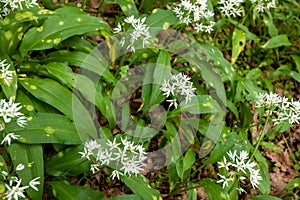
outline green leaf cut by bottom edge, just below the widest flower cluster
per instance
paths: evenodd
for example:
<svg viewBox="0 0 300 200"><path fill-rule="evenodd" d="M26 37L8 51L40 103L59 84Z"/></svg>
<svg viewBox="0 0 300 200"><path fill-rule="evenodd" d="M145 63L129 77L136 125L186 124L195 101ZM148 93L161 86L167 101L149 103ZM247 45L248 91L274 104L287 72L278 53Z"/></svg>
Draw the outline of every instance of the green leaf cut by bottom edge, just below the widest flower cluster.
<svg viewBox="0 0 300 200"><path fill-rule="evenodd" d="M158 190L153 189L147 180L142 175L137 176L122 176L121 180L129 187L134 194L137 194L145 200L162 200Z"/></svg>

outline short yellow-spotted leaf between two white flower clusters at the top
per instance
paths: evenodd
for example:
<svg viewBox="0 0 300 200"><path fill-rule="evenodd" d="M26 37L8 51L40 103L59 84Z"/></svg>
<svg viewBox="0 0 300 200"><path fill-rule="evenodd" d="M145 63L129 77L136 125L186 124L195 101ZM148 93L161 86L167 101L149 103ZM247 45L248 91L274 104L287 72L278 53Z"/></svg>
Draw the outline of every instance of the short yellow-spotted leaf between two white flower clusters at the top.
<svg viewBox="0 0 300 200"><path fill-rule="evenodd" d="M167 29L178 22L178 18L171 10L154 9L152 13L146 20L146 24L150 27Z"/></svg>

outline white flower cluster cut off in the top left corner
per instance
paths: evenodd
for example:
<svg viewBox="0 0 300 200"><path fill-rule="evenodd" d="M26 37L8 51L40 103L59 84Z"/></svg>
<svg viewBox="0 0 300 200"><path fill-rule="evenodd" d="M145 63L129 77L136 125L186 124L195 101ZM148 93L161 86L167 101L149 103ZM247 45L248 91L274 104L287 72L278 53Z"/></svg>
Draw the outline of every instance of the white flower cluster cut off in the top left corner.
<svg viewBox="0 0 300 200"><path fill-rule="evenodd" d="M15 10L23 10L25 8L32 8L38 6L37 0L0 0L3 3L0 9L0 18L14 12Z"/></svg>

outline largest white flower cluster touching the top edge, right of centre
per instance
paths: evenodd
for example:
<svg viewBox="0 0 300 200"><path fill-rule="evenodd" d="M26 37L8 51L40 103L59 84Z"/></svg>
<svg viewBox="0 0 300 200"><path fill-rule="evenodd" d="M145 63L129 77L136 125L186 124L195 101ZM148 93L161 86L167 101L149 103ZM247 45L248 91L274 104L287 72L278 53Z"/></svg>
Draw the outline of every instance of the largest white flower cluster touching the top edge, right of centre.
<svg viewBox="0 0 300 200"><path fill-rule="evenodd" d="M208 9L207 0L197 0L192 3L190 0L183 0L178 4L173 12L181 23L190 25L195 23L197 32L211 33L215 22L211 20L214 13Z"/></svg>

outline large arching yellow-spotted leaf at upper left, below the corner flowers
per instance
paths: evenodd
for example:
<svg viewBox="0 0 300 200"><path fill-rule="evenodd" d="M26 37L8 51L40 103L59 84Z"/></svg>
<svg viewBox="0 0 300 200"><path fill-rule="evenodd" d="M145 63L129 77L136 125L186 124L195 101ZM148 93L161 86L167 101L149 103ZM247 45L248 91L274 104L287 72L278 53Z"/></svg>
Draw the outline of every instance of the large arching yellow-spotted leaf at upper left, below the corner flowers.
<svg viewBox="0 0 300 200"><path fill-rule="evenodd" d="M85 33L101 31L109 35L110 27L100 18L83 14L66 14L49 17L42 26L30 29L20 46L22 56L30 50L49 49L61 41Z"/></svg>

